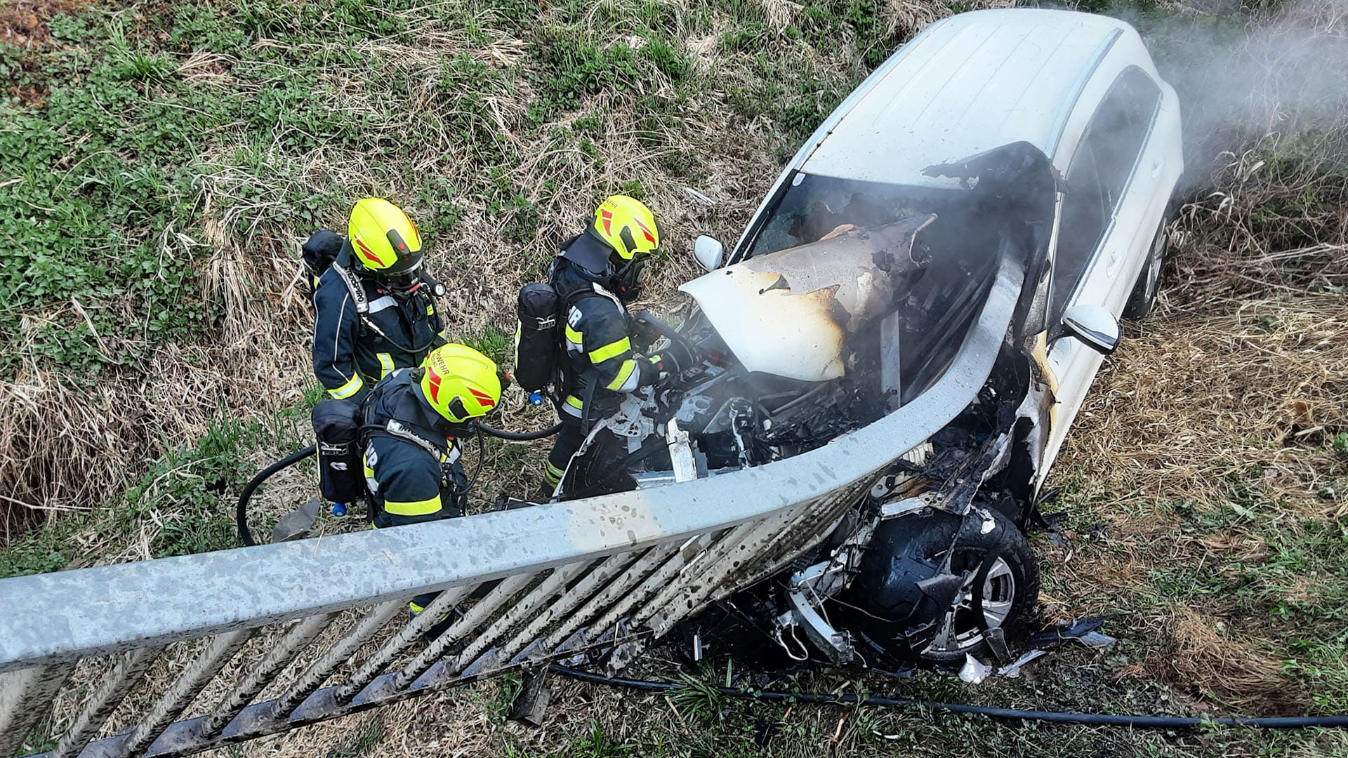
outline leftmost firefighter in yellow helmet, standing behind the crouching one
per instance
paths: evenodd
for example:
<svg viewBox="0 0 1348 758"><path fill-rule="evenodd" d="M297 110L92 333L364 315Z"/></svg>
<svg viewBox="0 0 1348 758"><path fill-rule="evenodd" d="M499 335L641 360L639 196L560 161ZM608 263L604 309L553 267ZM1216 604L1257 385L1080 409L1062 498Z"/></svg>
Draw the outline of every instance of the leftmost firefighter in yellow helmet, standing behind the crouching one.
<svg viewBox="0 0 1348 758"><path fill-rule="evenodd" d="M421 231L392 202L367 197L348 235L305 243L314 276L314 375L337 399L361 402L395 368L419 366L445 344L437 312L443 286L425 267Z"/></svg>

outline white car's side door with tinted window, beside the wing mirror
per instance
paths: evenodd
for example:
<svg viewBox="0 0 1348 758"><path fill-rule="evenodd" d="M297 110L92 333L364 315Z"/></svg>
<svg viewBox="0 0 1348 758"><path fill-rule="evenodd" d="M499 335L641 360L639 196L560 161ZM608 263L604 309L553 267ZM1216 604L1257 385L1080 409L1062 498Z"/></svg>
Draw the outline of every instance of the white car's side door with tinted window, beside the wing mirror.
<svg viewBox="0 0 1348 758"><path fill-rule="evenodd" d="M1142 69L1128 67L1096 108L1066 171L1053 260L1049 324L1061 324L1073 305L1103 305L1117 317L1140 271L1158 218L1155 182L1139 166L1157 162L1161 146L1148 140L1161 88ZM1155 173L1150 173L1154 177ZM1163 208L1163 204L1161 205ZM1039 471L1057 457L1103 356L1078 340L1049 345L1055 382L1053 426Z"/></svg>

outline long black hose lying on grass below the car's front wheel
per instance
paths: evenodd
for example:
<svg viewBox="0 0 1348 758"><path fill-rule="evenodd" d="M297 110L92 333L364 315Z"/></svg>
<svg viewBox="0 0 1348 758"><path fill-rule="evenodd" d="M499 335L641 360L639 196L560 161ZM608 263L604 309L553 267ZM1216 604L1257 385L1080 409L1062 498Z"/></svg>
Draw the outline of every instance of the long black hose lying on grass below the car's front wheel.
<svg viewBox="0 0 1348 758"><path fill-rule="evenodd" d="M561 664L553 664L550 670L562 676L589 681L640 689L646 692L669 692L682 689L685 685L663 681L646 681L638 678L605 677L590 672L582 672ZM717 687L717 692L727 697L748 697L768 701L789 703L825 703L834 705L878 705L884 708L931 708L933 711L950 711L954 713L975 713L992 719L1010 719L1022 722L1050 722L1057 724L1084 724L1100 727L1131 727L1131 728L1193 728L1205 724L1221 724L1228 727L1258 727L1266 730L1295 730L1309 727L1348 728L1348 716L1271 716L1271 718L1192 718L1192 716L1127 716L1113 713L1069 713L1062 711L1022 711L1019 708L995 708L992 705L968 705L964 703L937 703L934 700L915 700L911 697L857 697L856 695L822 695L817 692L745 692L731 687Z"/></svg>

